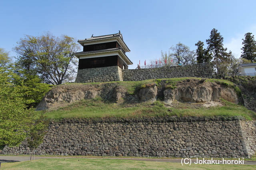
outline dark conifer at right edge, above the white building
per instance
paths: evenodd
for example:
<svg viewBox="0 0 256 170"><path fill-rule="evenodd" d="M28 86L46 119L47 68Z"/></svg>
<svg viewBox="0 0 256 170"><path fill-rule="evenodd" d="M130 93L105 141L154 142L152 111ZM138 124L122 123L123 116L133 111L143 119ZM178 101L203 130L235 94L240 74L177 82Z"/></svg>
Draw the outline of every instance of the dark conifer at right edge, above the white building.
<svg viewBox="0 0 256 170"><path fill-rule="evenodd" d="M246 33L243 40L243 45L241 50L243 50L241 57L250 60L252 63L256 62L256 41L254 40L254 35L252 33Z"/></svg>

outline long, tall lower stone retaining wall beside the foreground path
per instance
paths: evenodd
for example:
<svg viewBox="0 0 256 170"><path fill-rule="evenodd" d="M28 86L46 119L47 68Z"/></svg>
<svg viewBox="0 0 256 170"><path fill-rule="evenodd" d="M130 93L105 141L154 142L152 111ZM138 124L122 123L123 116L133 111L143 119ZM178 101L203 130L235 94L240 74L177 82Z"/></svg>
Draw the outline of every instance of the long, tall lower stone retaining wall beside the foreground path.
<svg viewBox="0 0 256 170"><path fill-rule="evenodd" d="M53 123L36 154L250 158L256 151L255 121L175 119ZM1 153L29 152L23 143Z"/></svg>

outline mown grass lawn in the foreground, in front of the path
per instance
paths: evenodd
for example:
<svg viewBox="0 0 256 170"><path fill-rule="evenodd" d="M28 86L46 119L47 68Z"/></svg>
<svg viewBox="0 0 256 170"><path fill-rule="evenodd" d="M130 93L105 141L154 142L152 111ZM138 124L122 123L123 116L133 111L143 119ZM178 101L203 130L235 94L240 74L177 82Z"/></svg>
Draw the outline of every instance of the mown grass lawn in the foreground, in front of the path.
<svg viewBox="0 0 256 170"><path fill-rule="evenodd" d="M78 161L79 160L79 161ZM211 165L170 162L148 162L122 159L49 158L24 162L2 163L1 170L254 170L256 165Z"/></svg>

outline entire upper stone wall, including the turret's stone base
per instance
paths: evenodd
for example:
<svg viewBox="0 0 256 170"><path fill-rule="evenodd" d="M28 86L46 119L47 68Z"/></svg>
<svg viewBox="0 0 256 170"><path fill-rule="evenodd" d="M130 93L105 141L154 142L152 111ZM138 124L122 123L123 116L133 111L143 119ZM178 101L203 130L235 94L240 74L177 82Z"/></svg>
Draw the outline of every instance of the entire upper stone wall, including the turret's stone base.
<svg viewBox="0 0 256 170"><path fill-rule="evenodd" d="M86 68L77 72L76 83L141 81L154 78L202 77L212 78L209 63L185 66L122 70L118 66Z"/></svg>

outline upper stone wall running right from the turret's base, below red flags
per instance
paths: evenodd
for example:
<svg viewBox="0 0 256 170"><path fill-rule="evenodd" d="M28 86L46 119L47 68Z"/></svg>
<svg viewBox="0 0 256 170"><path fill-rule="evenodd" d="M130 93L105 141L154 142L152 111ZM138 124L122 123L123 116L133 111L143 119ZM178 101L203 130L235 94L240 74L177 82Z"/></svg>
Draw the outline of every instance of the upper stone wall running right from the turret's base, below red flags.
<svg viewBox="0 0 256 170"><path fill-rule="evenodd" d="M202 77L212 78L210 63L160 68L122 70L124 81L141 81L155 78Z"/></svg>

